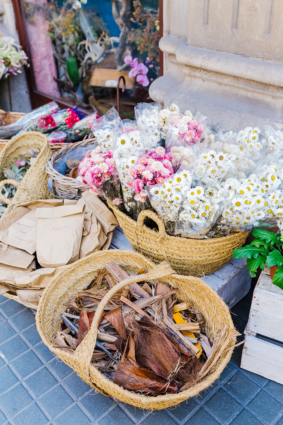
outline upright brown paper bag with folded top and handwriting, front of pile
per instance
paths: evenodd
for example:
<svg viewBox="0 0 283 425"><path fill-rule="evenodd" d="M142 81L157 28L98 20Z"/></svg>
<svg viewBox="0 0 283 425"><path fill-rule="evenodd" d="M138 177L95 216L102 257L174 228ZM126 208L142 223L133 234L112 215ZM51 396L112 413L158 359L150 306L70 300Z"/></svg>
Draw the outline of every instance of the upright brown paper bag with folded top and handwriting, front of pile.
<svg viewBox="0 0 283 425"><path fill-rule="evenodd" d="M85 206L63 205L37 208L37 261L42 267L57 267L79 259Z"/></svg>

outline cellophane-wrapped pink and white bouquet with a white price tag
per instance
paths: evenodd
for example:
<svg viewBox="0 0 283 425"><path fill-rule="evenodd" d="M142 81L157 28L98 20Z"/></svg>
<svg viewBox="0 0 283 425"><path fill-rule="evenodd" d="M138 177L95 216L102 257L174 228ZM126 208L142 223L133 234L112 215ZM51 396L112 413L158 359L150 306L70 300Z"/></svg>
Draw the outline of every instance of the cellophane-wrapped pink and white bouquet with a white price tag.
<svg viewBox="0 0 283 425"><path fill-rule="evenodd" d="M190 158L190 147L200 142L204 124L192 118L190 111L182 116L173 116L165 139L166 152L172 156L172 164L176 172L183 159ZM185 166L186 167L186 166Z"/></svg>

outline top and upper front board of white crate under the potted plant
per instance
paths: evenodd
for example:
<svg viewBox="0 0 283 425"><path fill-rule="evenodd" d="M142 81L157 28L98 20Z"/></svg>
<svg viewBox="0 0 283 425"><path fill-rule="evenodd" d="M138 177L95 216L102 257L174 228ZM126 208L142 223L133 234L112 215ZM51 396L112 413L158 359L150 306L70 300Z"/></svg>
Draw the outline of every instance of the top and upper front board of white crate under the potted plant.
<svg viewBox="0 0 283 425"><path fill-rule="evenodd" d="M283 290L264 272L255 286L247 329L283 342Z"/></svg>

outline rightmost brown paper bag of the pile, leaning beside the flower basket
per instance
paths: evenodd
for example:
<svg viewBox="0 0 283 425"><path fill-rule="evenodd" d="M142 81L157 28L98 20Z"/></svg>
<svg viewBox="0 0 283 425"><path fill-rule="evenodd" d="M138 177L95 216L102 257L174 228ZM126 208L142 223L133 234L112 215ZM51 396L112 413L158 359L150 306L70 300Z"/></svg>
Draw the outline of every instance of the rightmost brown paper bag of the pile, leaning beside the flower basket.
<svg viewBox="0 0 283 425"><path fill-rule="evenodd" d="M98 196L93 195L89 190L85 190L85 192L82 193L82 198L78 200L77 205L78 204L85 204L85 212L92 212L96 216L96 220L101 224L105 235L118 226L113 212L100 201Z"/></svg>

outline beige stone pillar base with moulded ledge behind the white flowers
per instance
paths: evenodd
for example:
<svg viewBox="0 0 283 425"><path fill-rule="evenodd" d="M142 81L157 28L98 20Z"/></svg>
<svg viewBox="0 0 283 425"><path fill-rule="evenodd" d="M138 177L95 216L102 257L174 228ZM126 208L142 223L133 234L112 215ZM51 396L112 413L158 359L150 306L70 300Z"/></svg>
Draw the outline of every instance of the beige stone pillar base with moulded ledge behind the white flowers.
<svg viewBox="0 0 283 425"><path fill-rule="evenodd" d="M238 129L283 122L283 1L164 0L150 96Z"/></svg>

